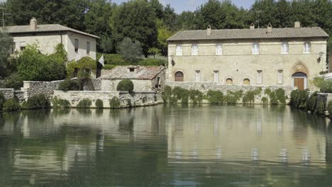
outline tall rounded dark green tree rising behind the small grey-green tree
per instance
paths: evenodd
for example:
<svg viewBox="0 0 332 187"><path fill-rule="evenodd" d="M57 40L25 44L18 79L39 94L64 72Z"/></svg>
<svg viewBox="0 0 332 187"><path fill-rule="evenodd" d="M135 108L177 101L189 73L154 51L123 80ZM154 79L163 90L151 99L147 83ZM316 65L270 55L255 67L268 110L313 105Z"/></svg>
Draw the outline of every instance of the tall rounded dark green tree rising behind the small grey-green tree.
<svg viewBox="0 0 332 187"><path fill-rule="evenodd" d="M145 56L148 55L148 48L157 45L155 8L146 0L121 4L114 13L112 23L116 42L126 37L138 40L142 44Z"/></svg>

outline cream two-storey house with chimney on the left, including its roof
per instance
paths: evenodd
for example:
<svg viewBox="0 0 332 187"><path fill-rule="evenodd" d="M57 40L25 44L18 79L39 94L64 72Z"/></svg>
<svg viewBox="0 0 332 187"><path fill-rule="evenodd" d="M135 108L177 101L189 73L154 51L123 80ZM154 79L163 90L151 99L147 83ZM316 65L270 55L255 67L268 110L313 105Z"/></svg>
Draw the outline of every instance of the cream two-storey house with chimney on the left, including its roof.
<svg viewBox="0 0 332 187"><path fill-rule="evenodd" d="M12 55L32 44L38 45L40 52L50 55L55 52L55 46L62 43L69 61L78 57L91 57L96 60L96 39L99 39L96 35L57 24L38 25L35 18L31 19L30 26L10 26L0 30L5 30L13 36L15 45L11 50Z"/></svg>

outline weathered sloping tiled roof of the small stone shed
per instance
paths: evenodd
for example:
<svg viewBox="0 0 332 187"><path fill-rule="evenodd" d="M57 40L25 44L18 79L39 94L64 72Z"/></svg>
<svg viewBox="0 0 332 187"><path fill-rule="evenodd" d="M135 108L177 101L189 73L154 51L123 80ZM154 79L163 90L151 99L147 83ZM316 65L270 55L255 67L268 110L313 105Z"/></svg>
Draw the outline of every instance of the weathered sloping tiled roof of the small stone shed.
<svg viewBox="0 0 332 187"><path fill-rule="evenodd" d="M128 72L129 68L135 68L135 72ZM165 67L143 67L143 66L118 66L108 74L105 74L98 79L138 79L138 80L152 80Z"/></svg>

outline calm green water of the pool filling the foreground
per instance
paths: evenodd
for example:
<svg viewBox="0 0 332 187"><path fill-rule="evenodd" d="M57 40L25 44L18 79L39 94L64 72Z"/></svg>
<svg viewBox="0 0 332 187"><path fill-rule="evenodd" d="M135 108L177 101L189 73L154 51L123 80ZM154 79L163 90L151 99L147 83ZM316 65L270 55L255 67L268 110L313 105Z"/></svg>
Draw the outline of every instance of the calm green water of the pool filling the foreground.
<svg viewBox="0 0 332 187"><path fill-rule="evenodd" d="M332 186L332 130L289 106L2 113L0 186Z"/></svg>

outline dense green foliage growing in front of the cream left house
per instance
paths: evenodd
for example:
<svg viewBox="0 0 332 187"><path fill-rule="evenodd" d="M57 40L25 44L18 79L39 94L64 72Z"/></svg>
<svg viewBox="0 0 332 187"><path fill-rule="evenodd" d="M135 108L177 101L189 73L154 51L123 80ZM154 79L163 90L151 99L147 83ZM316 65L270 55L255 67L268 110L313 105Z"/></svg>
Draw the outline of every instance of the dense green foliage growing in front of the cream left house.
<svg viewBox="0 0 332 187"><path fill-rule="evenodd" d="M52 55L43 55L37 45L29 45L19 55L18 74L25 81L55 81L65 79L66 67L63 45L55 47Z"/></svg>

